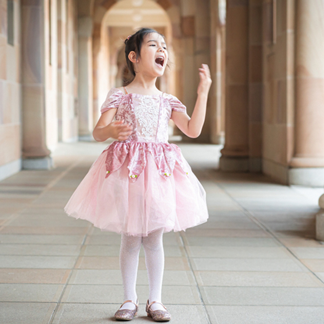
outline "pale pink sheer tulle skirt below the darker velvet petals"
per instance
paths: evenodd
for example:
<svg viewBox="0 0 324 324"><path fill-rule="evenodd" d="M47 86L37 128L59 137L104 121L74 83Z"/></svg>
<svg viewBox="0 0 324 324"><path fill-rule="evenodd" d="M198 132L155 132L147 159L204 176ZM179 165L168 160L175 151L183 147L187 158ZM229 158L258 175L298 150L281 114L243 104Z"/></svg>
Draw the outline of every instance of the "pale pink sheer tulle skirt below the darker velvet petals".
<svg viewBox="0 0 324 324"><path fill-rule="evenodd" d="M207 221L206 193L181 154L167 178L153 156L136 181L129 177L129 157L107 177L107 151L101 153L77 187L65 212L104 231L147 236L157 229L181 231Z"/></svg>

